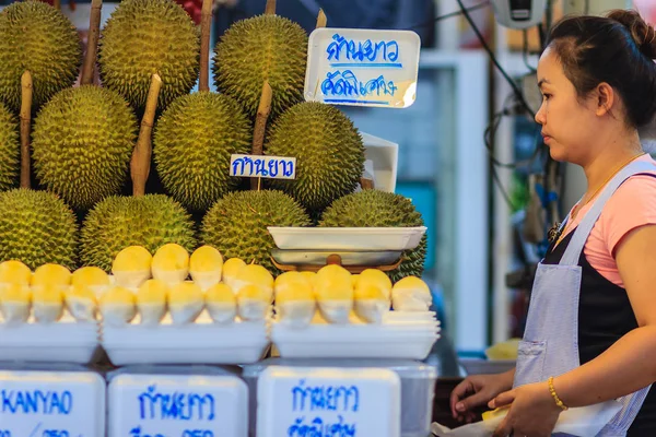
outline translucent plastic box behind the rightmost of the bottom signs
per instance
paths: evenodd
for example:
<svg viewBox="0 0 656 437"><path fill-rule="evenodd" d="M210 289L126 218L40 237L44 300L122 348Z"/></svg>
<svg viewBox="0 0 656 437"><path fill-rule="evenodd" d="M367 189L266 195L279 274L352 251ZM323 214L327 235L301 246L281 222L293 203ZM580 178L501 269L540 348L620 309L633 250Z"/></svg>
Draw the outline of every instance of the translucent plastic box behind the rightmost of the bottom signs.
<svg viewBox="0 0 656 437"><path fill-rule="evenodd" d="M257 385L262 373L271 366L328 367L337 369L378 368L388 369L400 379L401 437L426 437L430 435L433 398L437 371L434 367L408 359L285 359L269 358L261 363L243 366L242 377L249 392L249 436L256 437ZM359 433L360 435L360 433ZM259 435L257 435L259 437Z"/></svg>

